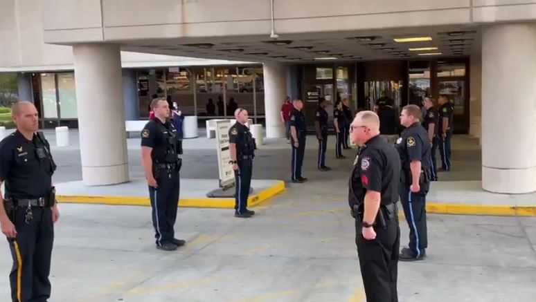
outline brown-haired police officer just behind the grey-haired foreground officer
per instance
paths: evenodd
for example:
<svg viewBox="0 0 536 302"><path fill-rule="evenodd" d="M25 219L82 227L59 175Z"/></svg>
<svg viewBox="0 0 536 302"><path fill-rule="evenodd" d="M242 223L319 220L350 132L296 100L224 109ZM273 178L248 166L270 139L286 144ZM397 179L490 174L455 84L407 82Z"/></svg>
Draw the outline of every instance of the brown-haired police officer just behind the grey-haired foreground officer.
<svg viewBox="0 0 536 302"><path fill-rule="evenodd" d="M400 261L423 260L428 247L426 194L430 186L431 144L420 115L417 105L407 105L400 113L400 124L406 127L396 145L402 160L400 200L409 225L409 247L400 252Z"/></svg>

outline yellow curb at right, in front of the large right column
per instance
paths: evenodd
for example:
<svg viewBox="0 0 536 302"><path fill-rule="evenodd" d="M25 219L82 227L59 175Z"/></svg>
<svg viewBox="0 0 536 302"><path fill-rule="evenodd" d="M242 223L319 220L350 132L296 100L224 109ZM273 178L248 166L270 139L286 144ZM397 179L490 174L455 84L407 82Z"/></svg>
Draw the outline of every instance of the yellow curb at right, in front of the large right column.
<svg viewBox="0 0 536 302"><path fill-rule="evenodd" d="M536 216L536 206L471 205L464 203L427 202L426 210L434 214L489 216Z"/></svg>

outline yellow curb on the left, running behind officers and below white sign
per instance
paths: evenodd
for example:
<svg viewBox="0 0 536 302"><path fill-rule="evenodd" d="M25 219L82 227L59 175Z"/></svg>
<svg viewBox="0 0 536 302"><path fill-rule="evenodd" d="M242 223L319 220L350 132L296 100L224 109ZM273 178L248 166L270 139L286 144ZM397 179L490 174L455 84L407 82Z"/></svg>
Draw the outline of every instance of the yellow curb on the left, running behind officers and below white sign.
<svg viewBox="0 0 536 302"><path fill-rule="evenodd" d="M285 191L285 182L278 180L271 187L264 189L248 198L248 206L255 207L269 198ZM98 205L141 205L150 206L148 197L139 196L83 196L58 195L57 200L62 203L88 203ZM213 207L234 209L234 198L183 198L179 200L180 207Z"/></svg>

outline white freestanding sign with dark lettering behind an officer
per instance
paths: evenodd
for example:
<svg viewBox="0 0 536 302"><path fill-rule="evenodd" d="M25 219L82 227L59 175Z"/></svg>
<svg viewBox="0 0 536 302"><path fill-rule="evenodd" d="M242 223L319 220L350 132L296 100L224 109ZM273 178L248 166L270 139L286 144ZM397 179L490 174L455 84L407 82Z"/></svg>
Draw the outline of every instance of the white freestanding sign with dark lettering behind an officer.
<svg viewBox="0 0 536 302"><path fill-rule="evenodd" d="M219 120L216 122L217 139L217 168L220 176L220 187L229 188L235 185L235 171L231 161L231 150L229 149L229 120Z"/></svg>

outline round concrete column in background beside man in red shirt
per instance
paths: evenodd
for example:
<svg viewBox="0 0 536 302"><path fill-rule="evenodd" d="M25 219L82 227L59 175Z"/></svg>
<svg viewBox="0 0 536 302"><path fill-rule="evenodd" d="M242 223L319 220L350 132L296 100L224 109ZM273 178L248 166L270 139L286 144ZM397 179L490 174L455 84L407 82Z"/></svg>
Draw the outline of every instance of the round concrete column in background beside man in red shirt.
<svg viewBox="0 0 536 302"><path fill-rule="evenodd" d="M263 64L265 80L266 137L284 138L285 125L279 115L287 96L287 66L278 63Z"/></svg>

